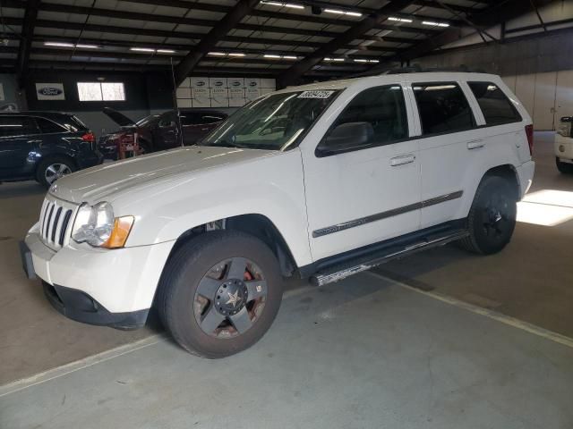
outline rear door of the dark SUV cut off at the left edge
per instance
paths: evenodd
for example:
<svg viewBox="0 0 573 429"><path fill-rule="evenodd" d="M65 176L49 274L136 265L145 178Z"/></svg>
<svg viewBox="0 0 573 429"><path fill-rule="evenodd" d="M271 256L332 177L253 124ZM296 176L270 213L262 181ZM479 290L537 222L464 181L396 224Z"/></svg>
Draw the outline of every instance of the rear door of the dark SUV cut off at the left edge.
<svg viewBox="0 0 573 429"><path fill-rule="evenodd" d="M0 178L31 176L34 149L42 140L36 122L28 116L0 115Z"/></svg>

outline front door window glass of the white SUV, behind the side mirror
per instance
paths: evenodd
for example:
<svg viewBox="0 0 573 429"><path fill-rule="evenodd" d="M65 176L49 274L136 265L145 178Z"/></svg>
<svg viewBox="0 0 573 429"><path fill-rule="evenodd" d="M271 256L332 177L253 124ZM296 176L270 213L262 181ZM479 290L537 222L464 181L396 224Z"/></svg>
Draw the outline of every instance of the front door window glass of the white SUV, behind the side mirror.
<svg viewBox="0 0 573 429"><path fill-rule="evenodd" d="M364 147L388 145L407 139L408 120L402 87L388 85L364 90L346 105L330 130L355 122L368 122L372 126L372 135L363 144ZM355 144L350 147L359 148Z"/></svg>

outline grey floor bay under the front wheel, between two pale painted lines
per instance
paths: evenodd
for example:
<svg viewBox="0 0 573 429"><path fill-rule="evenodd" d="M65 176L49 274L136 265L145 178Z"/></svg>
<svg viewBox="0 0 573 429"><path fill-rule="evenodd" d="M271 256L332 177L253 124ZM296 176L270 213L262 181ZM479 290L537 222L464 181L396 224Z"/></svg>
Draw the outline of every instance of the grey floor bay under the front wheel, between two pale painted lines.
<svg viewBox="0 0 573 429"><path fill-rule="evenodd" d="M569 429L572 347L363 273L287 294L235 357L151 341L0 388L0 427Z"/></svg>

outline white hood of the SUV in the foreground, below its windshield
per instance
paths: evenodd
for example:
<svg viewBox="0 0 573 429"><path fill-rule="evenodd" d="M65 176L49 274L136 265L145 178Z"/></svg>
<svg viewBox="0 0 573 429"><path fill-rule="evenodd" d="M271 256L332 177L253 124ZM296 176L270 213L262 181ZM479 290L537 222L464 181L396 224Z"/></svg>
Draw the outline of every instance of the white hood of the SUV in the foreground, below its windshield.
<svg viewBox="0 0 573 429"><path fill-rule="evenodd" d="M203 170L277 154L280 152L273 150L180 147L75 172L56 181L49 192L73 203L95 204L112 201L135 187L176 181Z"/></svg>

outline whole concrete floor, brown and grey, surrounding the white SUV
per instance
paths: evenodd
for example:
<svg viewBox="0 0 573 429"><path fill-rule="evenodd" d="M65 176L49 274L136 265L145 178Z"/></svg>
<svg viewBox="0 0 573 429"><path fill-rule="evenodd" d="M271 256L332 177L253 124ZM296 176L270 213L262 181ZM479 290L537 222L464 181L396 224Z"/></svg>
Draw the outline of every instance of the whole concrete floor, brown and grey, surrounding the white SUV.
<svg viewBox="0 0 573 429"><path fill-rule="evenodd" d="M552 136L535 139L532 190L573 191ZM573 341L372 274L320 290L291 282L269 334L221 361L158 342L153 324L120 332L65 319L24 278L17 251L43 195L32 182L0 185L0 428L573 427ZM500 255L446 247L380 272L573 337L572 236L572 221L519 223Z"/></svg>

